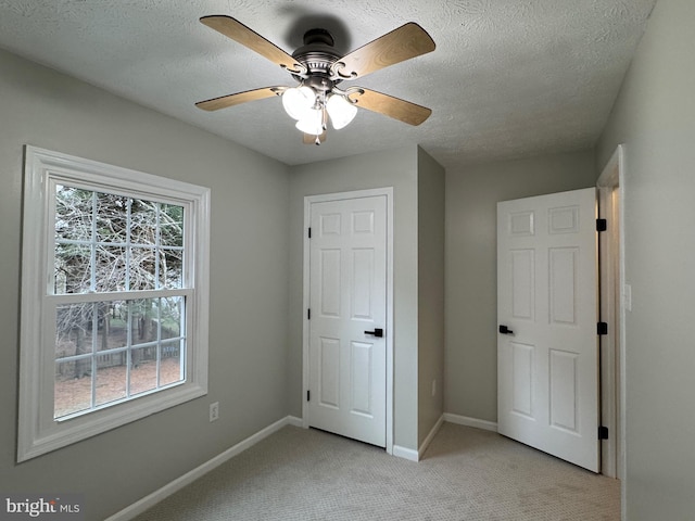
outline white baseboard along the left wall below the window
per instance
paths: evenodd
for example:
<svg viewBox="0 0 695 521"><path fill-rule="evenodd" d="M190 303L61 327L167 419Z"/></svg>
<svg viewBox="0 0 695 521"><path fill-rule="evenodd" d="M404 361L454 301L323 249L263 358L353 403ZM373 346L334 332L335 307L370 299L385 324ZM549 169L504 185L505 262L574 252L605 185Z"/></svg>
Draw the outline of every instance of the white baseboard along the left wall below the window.
<svg viewBox="0 0 695 521"><path fill-rule="evenodd" d="M152 494L148 496L144 496L142 499L134 503L129 507L126 507L123 510L114 513L110 518L106 518L105 521L128 521L129 519L132 519L136 516L139 516L140 513L144 512L147 509L153 507L157 503L167 498L172 494L180 491L186 485L192 483L193 481L206 474L214 468L228 461L229 459L233 458L238 454L243 453L247 448L251 448L256 443L269 436L274 432L279 431L286 425L302 427L302 424L303 423L301 418L296 418L294 416L287 416L281 420L276 421L271 425L266 427L262 431L256 432L252 436L249 436L245 440L242 440L235 446L215 456L213 459L205 461L203 465L194 468L193 470L185 473L180 478L177 478L170 483L164 485L162 488L154 491Z"/></svg>

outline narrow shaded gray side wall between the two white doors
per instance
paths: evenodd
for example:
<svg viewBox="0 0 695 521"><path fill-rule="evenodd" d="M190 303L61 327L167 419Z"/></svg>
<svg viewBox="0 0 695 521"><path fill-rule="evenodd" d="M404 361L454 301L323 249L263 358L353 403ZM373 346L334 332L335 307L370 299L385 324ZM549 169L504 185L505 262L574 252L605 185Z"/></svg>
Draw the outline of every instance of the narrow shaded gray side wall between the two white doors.
<svg viewBox="0 0 695 521"><path fill-rule="evenodd" d="M444 168L421 149L417 180L418 446L421 446L444 414Z"/></svg>

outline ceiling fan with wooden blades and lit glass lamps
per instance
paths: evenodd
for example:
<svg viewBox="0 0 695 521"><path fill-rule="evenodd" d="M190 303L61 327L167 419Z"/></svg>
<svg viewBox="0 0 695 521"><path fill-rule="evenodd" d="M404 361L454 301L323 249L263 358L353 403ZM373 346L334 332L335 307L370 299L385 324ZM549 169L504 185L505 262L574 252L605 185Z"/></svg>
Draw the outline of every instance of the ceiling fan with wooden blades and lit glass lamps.
<svg viewBox="0 0 695 521"><path fill-rule="evenodd" d="M333 128L343 128L355 117L357 107L409 125L421 124L432 113L425 106L375 90L355 86L339 87L343 80L361 78L433 51L435 46L432 38L413 22L340 56L333 48L333 37L326 29L306 31L304 46L290 55L231 16L203 16L200 21L279 65L299 84L296 87L271 86L223 96L195 103L199 109L217 111L281 96L285 110L296 119L296 128L304 132L304 142L315 144L326 139L329 119Z"/></svg>

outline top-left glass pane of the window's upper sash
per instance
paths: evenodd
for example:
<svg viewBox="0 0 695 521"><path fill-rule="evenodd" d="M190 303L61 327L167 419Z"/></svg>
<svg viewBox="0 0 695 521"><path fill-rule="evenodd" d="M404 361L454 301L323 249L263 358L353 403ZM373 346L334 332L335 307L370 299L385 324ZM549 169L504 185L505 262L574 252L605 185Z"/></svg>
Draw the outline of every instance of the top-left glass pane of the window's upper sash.
<svg viewBox="0 0 695 521"><path fill-rule="evenodd" d="M55 239L89 241L92 232L92 195L89 190L55 187Z"/></svg>

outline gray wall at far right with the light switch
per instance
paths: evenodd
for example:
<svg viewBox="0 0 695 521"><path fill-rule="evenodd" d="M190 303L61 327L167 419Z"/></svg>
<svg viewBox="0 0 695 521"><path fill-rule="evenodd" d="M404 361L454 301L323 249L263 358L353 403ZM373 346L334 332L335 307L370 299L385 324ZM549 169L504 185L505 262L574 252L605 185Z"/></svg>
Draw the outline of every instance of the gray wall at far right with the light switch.
<svg viewBox="0 0 695 521"><path fill-rule="evenodd" d="M660 0L598 145L624 143L627 519L695 512L695 2Z"/></svg>

